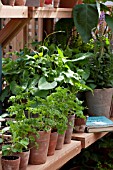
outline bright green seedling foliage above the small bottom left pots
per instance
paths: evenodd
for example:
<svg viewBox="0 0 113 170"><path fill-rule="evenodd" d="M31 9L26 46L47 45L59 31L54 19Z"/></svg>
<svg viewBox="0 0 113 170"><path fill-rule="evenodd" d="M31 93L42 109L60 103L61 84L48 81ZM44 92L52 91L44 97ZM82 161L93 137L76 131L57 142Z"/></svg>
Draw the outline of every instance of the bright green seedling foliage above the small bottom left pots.
<svg viewBox="0 0 113 170"><path fill-rule="evenodd" d="M22 152L23 150L28 149L29 138L27 137L28 133L24 126L23 122L13 122L9 121L9 132L11 133L11 144L6 144L2 146L2 154L12 155L16 152Z"/></svg>

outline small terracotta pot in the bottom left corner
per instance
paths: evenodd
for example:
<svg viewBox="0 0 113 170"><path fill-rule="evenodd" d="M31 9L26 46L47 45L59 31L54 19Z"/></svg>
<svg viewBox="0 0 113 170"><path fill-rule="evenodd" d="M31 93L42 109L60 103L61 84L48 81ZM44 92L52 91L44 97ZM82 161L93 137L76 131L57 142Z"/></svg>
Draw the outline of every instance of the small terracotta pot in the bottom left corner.
<svg viewBox="0 0 113 170"><path fill-rule="evenodd" d="M18 156L2 156L2 170L19 170L20 157Z"/></svg>

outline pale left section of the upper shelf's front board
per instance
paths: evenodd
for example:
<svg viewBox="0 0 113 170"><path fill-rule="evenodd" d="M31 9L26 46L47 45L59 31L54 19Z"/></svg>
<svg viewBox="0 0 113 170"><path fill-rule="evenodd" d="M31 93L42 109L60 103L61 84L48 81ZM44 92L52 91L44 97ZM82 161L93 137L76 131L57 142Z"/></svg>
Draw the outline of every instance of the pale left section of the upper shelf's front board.
<svg viewBox="0 0 113 170"><path fill-rule="evenodd" d="M0 18L28 18L26 6L0 6Z"/></svg>

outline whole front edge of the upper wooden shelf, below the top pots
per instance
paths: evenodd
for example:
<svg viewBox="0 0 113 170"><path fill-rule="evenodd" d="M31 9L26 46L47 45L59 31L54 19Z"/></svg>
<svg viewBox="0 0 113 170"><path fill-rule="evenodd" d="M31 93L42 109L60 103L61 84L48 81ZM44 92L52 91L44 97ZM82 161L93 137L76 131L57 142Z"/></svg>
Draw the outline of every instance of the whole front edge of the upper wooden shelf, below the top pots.
<svg viewBox="0 0 113 170"><path fill-rule="evenodd" d="M72 18L71 8L0 6L0 18Z"/></svg>

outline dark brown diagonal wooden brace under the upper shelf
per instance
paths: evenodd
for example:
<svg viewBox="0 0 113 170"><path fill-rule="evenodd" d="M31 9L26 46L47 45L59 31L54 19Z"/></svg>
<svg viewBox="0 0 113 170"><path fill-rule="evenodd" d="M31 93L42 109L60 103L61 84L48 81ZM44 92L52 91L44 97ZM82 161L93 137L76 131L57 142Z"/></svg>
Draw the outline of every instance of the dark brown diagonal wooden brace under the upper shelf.
<svg viewBox="0 0 113 170"><path fill-rule="evenodd" d="M2 47L5 47L29 21L29 18L11 19L6 26L0 30L0 44L2 44Z"/></svg>

